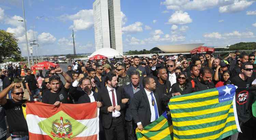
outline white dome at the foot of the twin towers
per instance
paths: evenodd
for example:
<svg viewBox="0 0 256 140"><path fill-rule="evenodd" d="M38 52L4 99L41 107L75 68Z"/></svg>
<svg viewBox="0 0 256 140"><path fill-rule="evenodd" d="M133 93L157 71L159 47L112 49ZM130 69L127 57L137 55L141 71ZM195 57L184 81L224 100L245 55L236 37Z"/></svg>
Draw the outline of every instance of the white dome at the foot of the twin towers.
<svg viewBox="0 0 256 140"><path fill-rule="evenodd" d="M95 55L102 55L102 56L105 56L105 57L108 57L108 58L121 57L120 53L117 50L112 49L112 48L101 48L101 49L98 49L94 53L92 53L89 56L89 58L93 57Z"/></svg>

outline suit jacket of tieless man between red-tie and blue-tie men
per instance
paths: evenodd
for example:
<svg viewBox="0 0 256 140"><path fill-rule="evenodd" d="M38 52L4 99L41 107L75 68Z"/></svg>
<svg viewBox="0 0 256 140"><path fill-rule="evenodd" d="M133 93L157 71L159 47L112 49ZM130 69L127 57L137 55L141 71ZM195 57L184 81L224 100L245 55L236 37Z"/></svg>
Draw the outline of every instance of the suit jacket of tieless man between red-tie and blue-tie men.
<svg viewBox="0 0 256 140"><path fill-rule="evenodd" d="M139 87L140 90L143 89L142 86ZM128 98L128 102L126 104L126 112L125 112L125 120L126 121L131 121L132 120L132 115L131 115L131 103L132 103L132 98L133 98L133 89L132 89L132 83L127 84L124 86L124 91L125 91L125 98Z"/></svg>

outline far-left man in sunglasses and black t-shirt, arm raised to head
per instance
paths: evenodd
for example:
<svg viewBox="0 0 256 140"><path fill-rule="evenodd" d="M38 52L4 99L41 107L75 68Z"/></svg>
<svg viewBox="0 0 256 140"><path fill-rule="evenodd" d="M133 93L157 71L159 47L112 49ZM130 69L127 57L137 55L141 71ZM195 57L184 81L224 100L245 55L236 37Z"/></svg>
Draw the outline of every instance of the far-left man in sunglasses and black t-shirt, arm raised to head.
<svg viewBox="0 0 256 140"><path fill-rule="evenodd" d="M12 99L5 96L11 91ZM0 93L0 105L7 116L9 131L13 140L28 140L28 126L22 111L24 91L19 83L13 83Z"/></svg>

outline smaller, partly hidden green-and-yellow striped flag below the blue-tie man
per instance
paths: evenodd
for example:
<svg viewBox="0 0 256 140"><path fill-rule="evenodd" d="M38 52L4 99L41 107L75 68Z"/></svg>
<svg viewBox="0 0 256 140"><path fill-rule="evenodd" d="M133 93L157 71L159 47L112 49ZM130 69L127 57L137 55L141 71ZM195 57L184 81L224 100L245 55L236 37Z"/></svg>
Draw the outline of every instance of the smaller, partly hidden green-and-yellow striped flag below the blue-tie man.
<svg viewBox="0 0 256 140"><path fill-rule="evenodd" d="M136 129L138 140L172 140L173 125L170 112L164 112L157 120L148 124L142 131Z"/></svg>

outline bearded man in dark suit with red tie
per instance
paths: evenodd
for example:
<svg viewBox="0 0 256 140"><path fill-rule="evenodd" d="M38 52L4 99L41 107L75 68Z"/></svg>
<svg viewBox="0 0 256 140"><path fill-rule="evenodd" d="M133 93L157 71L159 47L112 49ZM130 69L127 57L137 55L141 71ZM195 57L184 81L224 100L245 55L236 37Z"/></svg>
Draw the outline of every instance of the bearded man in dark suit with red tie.
<svg viewBox="0 0 256 140"><path fill-rule="evenodd" d="M101 88L98 99L102 103L100 113L105 130L106 140L124 140L124 112L125 104L122 103L122 90L117 89L116 74L106 75L107 86ZM122 87L121 87L122 88Z"/></svg>

